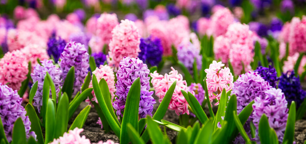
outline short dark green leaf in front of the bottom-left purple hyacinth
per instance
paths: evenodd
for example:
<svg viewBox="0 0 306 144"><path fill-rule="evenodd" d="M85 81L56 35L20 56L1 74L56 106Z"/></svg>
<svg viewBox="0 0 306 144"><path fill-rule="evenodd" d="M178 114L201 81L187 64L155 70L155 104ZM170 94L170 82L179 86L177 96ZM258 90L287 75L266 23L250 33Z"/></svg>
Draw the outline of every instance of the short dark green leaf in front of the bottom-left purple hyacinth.
<svg viewBox="0 0 306 144"><path fill-rule="evenodd" d="M21 118L17 118L14 123L13 133L12 133L12 144L25 144L26 135L24 124Z"/></svg>

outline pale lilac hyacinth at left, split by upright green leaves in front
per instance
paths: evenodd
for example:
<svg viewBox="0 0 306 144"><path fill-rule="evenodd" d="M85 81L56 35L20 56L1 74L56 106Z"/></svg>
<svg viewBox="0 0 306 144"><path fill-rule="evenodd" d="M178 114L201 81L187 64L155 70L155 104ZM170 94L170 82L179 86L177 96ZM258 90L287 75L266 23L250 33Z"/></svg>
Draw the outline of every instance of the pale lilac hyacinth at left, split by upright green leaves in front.
<svg viewBox="0 0 306 144"><path fill-rule="evenodd" d="M33 79L33 82L38 81L37 91L35 93L35 96L33 98L34 103L33 105L37 107L38 112L40 113L40 108L43 105L43 82L46 76L46 73L48 72L51 76L51 79L53 80L53 83L55 85L55 90L58 93L61 86L61 74L62 71L56 67L51 60L44 59L43 61L40 61L41 65L37 64L34 67L33 72L31 73L31 78ZM50 90L50 98L52 97L51 90Z"/></svg>

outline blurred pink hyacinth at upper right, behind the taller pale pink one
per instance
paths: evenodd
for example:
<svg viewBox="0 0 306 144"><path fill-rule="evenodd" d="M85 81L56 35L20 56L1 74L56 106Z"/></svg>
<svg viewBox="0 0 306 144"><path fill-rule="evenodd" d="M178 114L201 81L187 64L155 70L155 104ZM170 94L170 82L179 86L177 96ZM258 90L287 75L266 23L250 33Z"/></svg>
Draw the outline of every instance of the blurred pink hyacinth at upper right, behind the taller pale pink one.
<svg viewBox="0 0 306 144"><path fill-rule="evenodd" d="M218 9L211 16L211 29L215 37L226 33L227 27L234 22L234 16L228 8Z"/></svg>

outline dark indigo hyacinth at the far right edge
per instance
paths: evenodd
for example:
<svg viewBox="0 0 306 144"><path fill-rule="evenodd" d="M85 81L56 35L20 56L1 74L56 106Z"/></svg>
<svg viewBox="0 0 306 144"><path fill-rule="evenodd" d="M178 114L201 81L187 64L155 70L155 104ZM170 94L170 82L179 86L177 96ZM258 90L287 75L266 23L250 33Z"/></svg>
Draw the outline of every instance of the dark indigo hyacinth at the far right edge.
<svg viewBox="0 0 306 144"><path fill-rule="evenodd" d="M282 89L282 92L286 96L286 100L291 104L291 101L295 101L297 108L302 104L305 99L306 92L302 89L299 76L294 76L294 71L283 73L279 77L278 88Z"/></svg>

